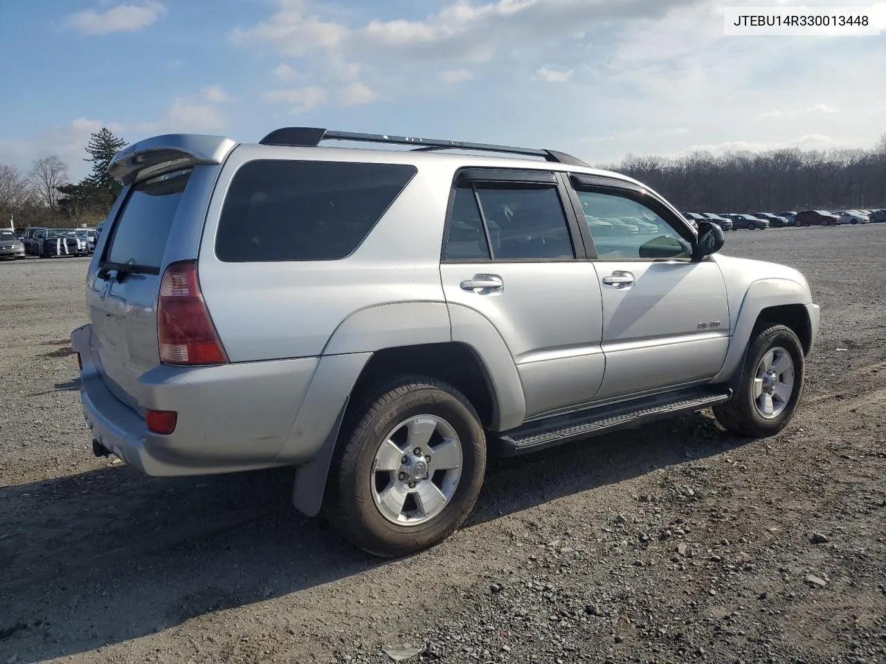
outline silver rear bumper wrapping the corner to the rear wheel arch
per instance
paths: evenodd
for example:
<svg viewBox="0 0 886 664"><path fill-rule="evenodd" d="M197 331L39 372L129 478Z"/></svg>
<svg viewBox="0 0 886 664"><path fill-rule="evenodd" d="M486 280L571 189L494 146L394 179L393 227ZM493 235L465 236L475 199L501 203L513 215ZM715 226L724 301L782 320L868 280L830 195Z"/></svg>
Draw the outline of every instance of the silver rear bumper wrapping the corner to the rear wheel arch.
<svg viewBox="0 0 886 664"><path fill-rule="evenodd" d="M329 434L356 379L350 374L359 374L365 362L339 356L351 358L354 368L335 371L343 365L332 362L332 373L317 370L320 358L159 366L139 377L144 403L136 410L105 384L96 344L91 325L71 335L83 364L87 426L105 449L147 475L206 475L306 462ZM178 413L175 432L149 432L145 408Z"/></svg>

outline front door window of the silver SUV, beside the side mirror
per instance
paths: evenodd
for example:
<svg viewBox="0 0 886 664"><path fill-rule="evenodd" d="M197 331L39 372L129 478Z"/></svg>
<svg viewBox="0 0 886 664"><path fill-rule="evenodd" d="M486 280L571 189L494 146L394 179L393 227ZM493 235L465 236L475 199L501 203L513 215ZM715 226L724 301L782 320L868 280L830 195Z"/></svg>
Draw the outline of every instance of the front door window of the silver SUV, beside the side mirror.
<svg viewBox="0 0 886 664"><path fill-rule="evenodd" d="M648 206L617 194L578 194L598 259L684 259L692 255L692 245Z"/></svg>

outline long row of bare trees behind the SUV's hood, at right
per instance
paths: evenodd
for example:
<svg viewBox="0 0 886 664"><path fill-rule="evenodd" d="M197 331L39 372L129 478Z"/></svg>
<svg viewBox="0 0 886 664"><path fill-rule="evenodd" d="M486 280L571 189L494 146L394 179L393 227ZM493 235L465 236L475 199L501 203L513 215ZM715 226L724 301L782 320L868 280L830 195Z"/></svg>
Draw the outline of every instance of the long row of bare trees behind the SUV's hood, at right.
<svg viewBox="0 0 886 664"><path fill-rule="evenodd" d="M628 156L605 167L656 189L683 212L886 207L886 134L872 150Z"/></svg>

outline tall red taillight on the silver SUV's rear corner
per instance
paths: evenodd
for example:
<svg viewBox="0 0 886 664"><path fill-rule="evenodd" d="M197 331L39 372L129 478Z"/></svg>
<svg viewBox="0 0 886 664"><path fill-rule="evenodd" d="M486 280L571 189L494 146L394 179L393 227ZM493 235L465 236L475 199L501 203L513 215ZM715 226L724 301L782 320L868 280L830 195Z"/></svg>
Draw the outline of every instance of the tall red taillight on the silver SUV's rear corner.
<svg viewBox="0 0 886 664"><path fill-rule="evenodd" d="M197 277L196 261L168 266L157 303L160 362L175 365L223 364L221 346Z"/></svg>

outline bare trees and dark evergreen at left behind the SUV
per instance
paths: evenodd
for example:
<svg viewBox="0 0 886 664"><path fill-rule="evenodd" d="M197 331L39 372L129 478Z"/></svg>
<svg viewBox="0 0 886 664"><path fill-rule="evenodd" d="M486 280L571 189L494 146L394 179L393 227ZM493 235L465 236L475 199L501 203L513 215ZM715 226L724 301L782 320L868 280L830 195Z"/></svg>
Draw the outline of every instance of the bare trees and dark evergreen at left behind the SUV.
<svg viewBox="0 0 886 664"><path fill-rule="evenodd" d="M79 182L70 180L70 166L57 154L35 159L24 172L0 164L0 226L7 228L11 218L15 228L95 226L122 189L107 167L126 144L107 127L89 135L85 160L92 168Z"/></svg>

